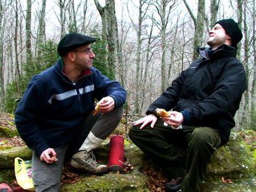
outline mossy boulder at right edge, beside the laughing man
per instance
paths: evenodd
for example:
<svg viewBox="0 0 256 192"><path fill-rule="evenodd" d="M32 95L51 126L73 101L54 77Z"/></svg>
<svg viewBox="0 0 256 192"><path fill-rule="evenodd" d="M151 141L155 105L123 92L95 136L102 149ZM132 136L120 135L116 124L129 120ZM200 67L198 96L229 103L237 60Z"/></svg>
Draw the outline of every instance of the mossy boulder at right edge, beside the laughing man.
<svg viewBox="0 0 256 192"><path fill-rule="evenodd" d="M255 176L255 169L247 144L237 133L231 133L229 142L213 154L207 177L250 178Z"/></svg>

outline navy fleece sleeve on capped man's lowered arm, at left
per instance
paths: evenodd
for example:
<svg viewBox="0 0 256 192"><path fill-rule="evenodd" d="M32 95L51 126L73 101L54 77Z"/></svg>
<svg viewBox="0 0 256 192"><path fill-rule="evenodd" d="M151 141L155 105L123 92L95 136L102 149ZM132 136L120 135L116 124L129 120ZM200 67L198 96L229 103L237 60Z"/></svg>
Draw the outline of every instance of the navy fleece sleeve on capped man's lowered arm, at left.
<svg viewBox="0 0 256 192"><path fill-rule="evenodd" d="M23 141L35 150L38 156L49 146L38 128L38 112L45 100L44 94L35 82L31 81L15 112L15 124Z"/></svg>

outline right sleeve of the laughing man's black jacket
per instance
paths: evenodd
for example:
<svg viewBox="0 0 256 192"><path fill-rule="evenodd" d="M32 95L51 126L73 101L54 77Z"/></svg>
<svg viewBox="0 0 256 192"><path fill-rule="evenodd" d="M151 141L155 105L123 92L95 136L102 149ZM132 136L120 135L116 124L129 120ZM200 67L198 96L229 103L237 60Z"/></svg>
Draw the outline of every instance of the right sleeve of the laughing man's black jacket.
<svg viewBox="0 0 256 192"><path fill-rule="evenodd" d="M233 108L236 111L246 88L247 80L243 65L240 63L227 65L213 93L196 106L186 109L189 119L185 118L184 121L198 122L205 117L225 114Z"/></svg>

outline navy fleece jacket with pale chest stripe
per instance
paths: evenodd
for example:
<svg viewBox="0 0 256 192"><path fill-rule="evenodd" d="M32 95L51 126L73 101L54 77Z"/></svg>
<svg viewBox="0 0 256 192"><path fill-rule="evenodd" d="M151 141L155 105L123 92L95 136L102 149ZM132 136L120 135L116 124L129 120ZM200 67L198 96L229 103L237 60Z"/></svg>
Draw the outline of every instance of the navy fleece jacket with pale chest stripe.
<svg viewBox="0 0 256 192"><path fill-rule="evenodd" d="M69 144L77 128L94 109L94 99L111 96L115 107L126 101L126 91L95 68L85 71L75 85L62 73L60 59L35 75L15 112L17 130L40 156L45 149Z"/></svg>

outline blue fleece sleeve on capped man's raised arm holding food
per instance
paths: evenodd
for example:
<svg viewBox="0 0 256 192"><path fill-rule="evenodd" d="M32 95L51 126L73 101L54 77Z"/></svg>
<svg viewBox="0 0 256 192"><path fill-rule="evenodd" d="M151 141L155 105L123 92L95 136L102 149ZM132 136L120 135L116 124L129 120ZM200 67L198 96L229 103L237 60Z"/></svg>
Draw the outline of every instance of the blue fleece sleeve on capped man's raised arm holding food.
<svg viewBox="0 0 256 192"><path fill-rule="evenodd" d="M94 69L95 97L100 101L101 98L111 96L114 99L115 107L122 106L126 102L126 90L117 81L109 80L102 75L99 70Z"/></svg>

